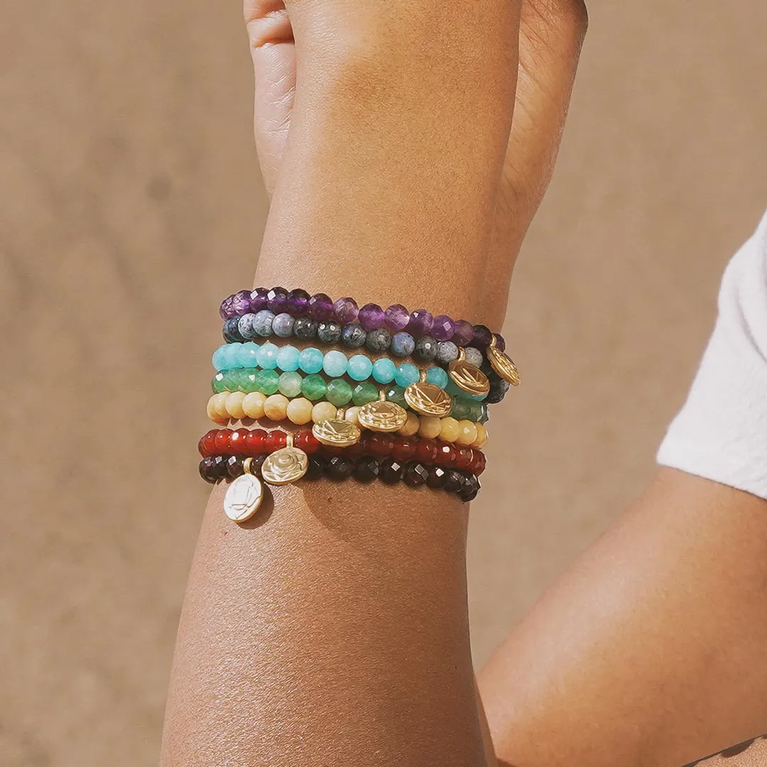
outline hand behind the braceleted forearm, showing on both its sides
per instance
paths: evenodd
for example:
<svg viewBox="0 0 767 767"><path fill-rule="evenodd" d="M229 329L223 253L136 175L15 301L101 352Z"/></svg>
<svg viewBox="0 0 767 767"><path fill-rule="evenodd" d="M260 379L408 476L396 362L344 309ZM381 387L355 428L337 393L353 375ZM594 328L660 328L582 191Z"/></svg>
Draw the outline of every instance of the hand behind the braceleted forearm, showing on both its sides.
<svg viewBox="0 0 767 767"><path fill-rule="evenodd" d="M288 2L288 5L290 3ZM581 0L522 0L514 115L493 224L485 301L505 305L516 254L554 170L588 17ZM288 141L296 47L281 0L245 0L255 72L255 143L271 196Z"/></svg>

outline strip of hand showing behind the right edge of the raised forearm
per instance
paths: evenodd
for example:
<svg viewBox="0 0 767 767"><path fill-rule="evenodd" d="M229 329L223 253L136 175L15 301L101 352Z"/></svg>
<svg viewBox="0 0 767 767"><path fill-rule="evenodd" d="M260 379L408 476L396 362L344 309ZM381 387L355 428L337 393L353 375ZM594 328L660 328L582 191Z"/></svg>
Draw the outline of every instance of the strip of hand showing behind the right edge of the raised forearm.
<svg viewBox="0 0 767 767"><path fill-rule="evenodd" d="M551 180L588 27L582 0L523 0L519 71L485 305L502 321L515 257Z"/></svg>

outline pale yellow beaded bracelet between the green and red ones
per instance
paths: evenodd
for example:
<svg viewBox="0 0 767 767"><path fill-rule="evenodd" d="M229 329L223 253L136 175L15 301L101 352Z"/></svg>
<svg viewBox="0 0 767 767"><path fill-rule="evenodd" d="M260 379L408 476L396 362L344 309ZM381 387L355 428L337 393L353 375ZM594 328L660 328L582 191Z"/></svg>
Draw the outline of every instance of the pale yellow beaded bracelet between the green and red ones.
<svg viewBox="0 0 767 767"><path fill-rule="evenodd" d="M362 424L357 420L359 407L344 408L344 420L351 421L357 426ZM338 408L329 402L312 404L305 397L289 400L284 394L266 396L259 391L245 393L242 391L222 391L214 394L208 400L207 413L213 423L225 426L230 420L251 418L258 420L266 418L271 421L289 420L297 426L307 423L321 423L336 417ZM428 437L442 439L444 442L456 443L466 447L482 449L487 443L488 433L485 425L469 420L431 418L419 416L412 410L407 413L405 425L397 431L402 436Z"/></svg>

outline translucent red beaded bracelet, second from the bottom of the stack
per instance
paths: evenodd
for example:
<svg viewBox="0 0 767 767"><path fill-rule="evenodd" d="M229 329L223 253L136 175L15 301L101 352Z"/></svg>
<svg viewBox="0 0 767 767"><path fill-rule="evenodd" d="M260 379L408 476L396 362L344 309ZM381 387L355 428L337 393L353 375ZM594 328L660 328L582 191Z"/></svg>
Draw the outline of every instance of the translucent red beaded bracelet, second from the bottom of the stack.
<svg viewBox="0 0 767 767"><path fill-rule="evenodd" d="M293 434L293 444L308 455L322 456L391 456L398 461L419 460L471 472L476 476L485 470L485 454L472 447L461 447L442 439L429 439L400 434L364 432L360 441L348 447L323 445L309 429ZM208 456L263 456L275 453L288 444L288 432L275 429L212 429L199 440L199 454Z"/></svg>

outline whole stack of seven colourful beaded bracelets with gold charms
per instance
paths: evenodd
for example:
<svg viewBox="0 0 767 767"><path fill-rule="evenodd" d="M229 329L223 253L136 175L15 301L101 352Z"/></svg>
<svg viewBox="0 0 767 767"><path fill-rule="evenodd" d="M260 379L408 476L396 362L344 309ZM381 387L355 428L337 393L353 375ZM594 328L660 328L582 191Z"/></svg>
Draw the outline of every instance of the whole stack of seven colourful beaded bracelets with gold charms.
<svg viewBox="0 0 767 767"><path fill-rule="evenodd" d="M295 433L221 429L202 437L203 479L233 480L224 501L229 518L244 522L257 512L262 481L304 476L401 480L464 502L476 497L487 406L519 383L498 334L425 309L360 309L352 298L334 302L300 289L239 291L220 313L227 343L213 354L211 420L313 424ZM280 342L291 337L298 346ZM371 356L338 346L365 347Z"/></svg>

